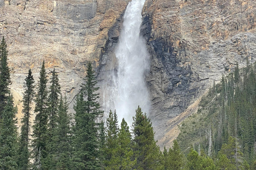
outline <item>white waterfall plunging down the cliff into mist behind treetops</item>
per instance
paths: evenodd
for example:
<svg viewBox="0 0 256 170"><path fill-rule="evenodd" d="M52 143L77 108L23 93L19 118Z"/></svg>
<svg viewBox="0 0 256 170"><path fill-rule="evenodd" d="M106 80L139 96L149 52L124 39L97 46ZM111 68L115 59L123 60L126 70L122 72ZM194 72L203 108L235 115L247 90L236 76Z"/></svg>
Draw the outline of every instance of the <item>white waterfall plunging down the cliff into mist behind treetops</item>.
<svg viewBox="0 0 256 170"><path fill-rule="evenodd" d="M126 8L124 22L115 49L117 58L116 70L108 75L110 84L103 89L103 107L105 114L109 109L116 113L118 122L122 118L129 126L138 105L147 114L150 111L149 93L145 81L145 72L149 70L149 54L146 42L140 36L142 8L145 0L132 0Z"/></svg>

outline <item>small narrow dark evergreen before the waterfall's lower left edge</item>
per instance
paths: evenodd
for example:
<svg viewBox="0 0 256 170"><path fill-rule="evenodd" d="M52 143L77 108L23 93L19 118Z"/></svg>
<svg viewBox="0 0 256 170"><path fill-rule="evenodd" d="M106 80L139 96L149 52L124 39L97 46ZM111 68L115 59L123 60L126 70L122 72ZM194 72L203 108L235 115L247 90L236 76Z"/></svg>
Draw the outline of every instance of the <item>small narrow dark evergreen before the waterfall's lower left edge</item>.
<svg viewBox="0 0 256 170"><path fill-rule="evenodd" d="M116 149L118 146L117 142L117 133L118 133L118 122L116 111L113 112L110 110L109 116L107 118L107 137L106 137L106 166L112 169L116 167L117 157L115 157ZM114 167L113 167L114 166Z"/></svg>

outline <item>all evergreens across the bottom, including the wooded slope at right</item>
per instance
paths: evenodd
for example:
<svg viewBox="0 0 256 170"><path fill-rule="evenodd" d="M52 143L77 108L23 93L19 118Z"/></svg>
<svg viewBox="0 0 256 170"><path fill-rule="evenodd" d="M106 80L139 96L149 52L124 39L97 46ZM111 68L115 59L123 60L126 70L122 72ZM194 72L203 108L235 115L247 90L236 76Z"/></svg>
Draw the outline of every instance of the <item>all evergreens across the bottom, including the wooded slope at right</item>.
<svg viewBox="0 0 256 170"><path fill-rule="evenodd" d="M92 63L77 94L74 114L61 95L58 73L50 79L43 62L37 84L28 70L23 117L18 133L17 108L10 91L5 39L0 45L0 170L7 169L256 169L256 64L238 69L205 95L197 114L180 127L173 146L163 151L150 119L141 108L132 126L109 111L103 122ZM33 107L35 104L35 107ZM31 122L31 114L35 114ZM179 143L179 144L178 144Z"/></svg>

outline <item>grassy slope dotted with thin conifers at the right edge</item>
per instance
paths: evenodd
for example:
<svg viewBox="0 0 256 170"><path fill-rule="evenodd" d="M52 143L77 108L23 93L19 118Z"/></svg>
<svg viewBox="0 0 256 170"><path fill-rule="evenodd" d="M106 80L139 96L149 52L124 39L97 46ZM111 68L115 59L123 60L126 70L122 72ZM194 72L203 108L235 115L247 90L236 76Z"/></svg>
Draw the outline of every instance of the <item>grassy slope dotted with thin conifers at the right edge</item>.
<svg viewBox="0 0 256 170"><path fill-rule="evenodd" d="M249 165L255 169L256 64L247 63L244 69L237 64L234 73L222 76L180 130L178 141L184 152L192 145L216 161L231 163L228 169L248 169Z"/></svg>

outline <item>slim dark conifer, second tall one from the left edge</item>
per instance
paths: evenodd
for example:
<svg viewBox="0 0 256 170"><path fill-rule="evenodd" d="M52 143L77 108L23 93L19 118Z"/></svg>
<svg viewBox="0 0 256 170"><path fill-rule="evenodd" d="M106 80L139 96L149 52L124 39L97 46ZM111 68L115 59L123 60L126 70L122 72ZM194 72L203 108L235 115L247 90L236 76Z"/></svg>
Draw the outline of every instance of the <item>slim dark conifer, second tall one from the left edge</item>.
<svg viewBox="0 0 256 170"><path fill-rule="evenodd" d="M21 123L21 135L19 141L19 157L18 157L18 167L22 170L29 169L29 131L30 131L30 117L31 117L31 104L34 98L34 78L31 69L28 71L28 76L25 79L25 92L23 94L23 109L24 114Z"/></svg>

